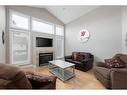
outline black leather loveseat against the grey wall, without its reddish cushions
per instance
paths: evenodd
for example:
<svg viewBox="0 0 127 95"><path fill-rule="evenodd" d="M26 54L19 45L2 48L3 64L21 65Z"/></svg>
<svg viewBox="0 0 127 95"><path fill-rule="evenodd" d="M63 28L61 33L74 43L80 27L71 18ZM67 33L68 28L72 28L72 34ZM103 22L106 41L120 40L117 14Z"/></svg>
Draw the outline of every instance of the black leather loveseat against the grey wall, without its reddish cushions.
<svg viewBox="0 0 127 95"><path fill-rule="evenodd" d="M85 58L82 61L75 61L72 55L65 56L65 61L75 64L75 68L82 71L88 71L93 67L94 56L91 53L78 52L84 54Z"/></svg>

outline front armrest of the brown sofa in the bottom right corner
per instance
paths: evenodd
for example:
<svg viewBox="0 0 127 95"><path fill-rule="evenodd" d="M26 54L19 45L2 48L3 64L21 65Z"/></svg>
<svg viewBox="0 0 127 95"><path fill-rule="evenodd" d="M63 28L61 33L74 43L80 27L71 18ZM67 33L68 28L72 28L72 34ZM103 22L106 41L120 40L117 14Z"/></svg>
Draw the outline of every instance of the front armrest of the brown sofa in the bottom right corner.
<svg viewBox="0 0 127 95"><path fill-rule="evenodd" d="M112 89L127 89L127 69L112 69L111 73Z"/></svg>

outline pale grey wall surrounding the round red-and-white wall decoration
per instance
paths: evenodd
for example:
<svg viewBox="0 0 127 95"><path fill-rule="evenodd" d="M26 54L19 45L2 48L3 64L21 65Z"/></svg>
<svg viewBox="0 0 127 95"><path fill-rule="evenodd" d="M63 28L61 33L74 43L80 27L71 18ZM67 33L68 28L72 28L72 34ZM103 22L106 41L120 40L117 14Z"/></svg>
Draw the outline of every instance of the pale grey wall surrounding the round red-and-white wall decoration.
<svg viewBox="0 0 127 95"><path fill-rule="evenodd" d="M121 52L122 13L121 7L103 6L69 23L65 27L65 55L73 51L90 52L95 62L110 58ZM87 43L80 43L79 31L90 32Z"/></svg>

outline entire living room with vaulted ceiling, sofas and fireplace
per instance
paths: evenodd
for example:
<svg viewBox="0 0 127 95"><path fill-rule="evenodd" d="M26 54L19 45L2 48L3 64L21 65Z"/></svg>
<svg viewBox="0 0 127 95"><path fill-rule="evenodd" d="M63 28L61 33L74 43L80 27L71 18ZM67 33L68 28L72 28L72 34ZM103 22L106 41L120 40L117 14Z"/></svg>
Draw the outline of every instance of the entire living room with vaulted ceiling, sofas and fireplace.
<svg viewBox="0 0 127 95"><path fill-rule="evenodd" d="M126 9L0 6L0 88L126 89Z"/></svg>

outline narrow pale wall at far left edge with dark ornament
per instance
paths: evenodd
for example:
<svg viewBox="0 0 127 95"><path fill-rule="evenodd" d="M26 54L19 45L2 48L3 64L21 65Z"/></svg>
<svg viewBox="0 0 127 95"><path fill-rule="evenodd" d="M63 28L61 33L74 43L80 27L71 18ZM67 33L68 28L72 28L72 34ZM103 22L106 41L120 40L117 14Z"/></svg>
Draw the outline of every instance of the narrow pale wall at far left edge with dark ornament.
<svg viewBox="0 0 127 95"><path fill-rule="evenodd" d="M5 7L0 6L0 63L6 62L5 50Z"/></svg>

